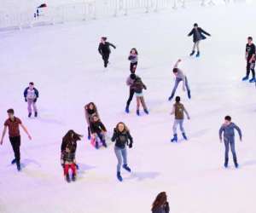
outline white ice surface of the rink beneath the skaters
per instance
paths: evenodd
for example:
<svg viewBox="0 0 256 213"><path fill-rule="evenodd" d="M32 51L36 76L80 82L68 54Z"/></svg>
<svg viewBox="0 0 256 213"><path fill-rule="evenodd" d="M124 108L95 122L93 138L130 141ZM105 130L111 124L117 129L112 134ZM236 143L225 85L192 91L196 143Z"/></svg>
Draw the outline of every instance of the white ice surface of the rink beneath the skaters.
<svg viewBox="0 0 256 213"><path fill-rule="evenodd" d="M255 213L256 146L255 86L242 83L245 43L256 37L255 5L237 3L212 8L178 9L109 20L45 26L0 34L0 122L14 107L32 134L22 132L18 173L10 165L8 136L0 147L1 213L146 213L160 191L169 195L172 213ZM201 43L201 58L189 58L198 22L212 37ZM107 70L97 53L99 37L117 45ZM137 118L136 103L125 114L129 75L127 55L139 51L137 73L150 114ZM191 87L189 101L181 87L177 95L189 110L189 141L172 144L172 65L183 60ZM39 89L39 118L26 118L22 93L28 82ZM84 104L96 102L109 135L124 121L134 137L129 150L132 175L116 179L113 144L95 150L85 140ZM224 145L218 128L230 114L243 131L236 135L241 168L223 169ZM67 184L60 165L61 137L67 130L83 134L78 144L79 178ZM179 135L180 136L180 135ZM231 157L231 156L230 156ZM231 158L230 158L231 159Z"/></svg>

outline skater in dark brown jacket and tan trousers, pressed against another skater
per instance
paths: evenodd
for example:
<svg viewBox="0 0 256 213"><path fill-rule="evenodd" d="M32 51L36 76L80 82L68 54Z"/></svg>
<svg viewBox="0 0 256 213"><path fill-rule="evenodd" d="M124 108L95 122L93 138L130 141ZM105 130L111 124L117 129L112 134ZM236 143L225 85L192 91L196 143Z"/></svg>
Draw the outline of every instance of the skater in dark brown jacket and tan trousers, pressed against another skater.
<svg viewBox="0 0 256 213"><path fill-rule="evenodd" d="M148 108L146 106L143 89L147 89L146 85L143 83L142 78L136 77L134 83L131 85L131 89L134 89L136 100L137 100L137 116L140 116L140 105L143 105L144 112L148 114Z"/></svg>

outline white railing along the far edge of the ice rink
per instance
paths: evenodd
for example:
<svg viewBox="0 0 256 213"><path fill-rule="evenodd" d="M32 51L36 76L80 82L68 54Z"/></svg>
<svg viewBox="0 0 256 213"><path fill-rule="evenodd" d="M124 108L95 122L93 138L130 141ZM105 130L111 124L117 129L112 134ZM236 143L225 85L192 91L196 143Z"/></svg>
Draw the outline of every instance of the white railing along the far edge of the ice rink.
<svg viewBox="0 0 256 213"><path fill-rule="evenodd" d="M19 11L0 10L0 30L22 29L32 26L55 25L67 21L93 20L132 13L157 12L162 9L185 8L190 3L207 6L219 0L92 0L84 3L62 4L55 7ZM223 0L230 3L231 0ZM246 0L233 0L246 1Z"/></svg>

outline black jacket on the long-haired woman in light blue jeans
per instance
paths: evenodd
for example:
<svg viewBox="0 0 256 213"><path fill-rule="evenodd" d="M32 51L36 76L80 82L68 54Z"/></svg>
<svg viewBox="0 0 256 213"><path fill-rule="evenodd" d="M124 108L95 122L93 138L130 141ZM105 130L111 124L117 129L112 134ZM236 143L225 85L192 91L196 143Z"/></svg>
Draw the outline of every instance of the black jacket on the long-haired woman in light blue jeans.
<svg viewBox="0 0 256 213"><path fill-rule="evenodd" d="M111 141L115 141L115 146L119 148L125 148L125 145L128 145L129 141L130 144L133 143L130 132L127 130L124 130L123 132L119 132L119 130L114 130Z"/></svg>

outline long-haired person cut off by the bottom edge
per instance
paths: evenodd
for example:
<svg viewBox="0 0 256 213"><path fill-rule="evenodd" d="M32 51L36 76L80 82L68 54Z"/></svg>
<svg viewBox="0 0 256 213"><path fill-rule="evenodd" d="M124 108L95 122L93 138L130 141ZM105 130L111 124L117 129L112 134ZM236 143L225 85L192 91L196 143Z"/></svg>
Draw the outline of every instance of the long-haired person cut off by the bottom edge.
<svg viewBox="0 0 256 213"><path fill-rule="evenodd" d="M169 213L170 207L165 192L159 193L152 204L152 213Z"/></svg>

